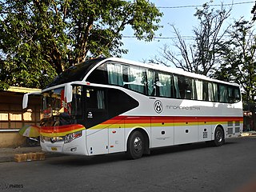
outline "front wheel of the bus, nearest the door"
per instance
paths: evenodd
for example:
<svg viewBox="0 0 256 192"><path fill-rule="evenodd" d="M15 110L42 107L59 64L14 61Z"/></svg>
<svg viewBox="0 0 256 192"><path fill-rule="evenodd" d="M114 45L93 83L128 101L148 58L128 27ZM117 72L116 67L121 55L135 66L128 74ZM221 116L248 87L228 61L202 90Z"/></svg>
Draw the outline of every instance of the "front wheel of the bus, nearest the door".
<svg viewBox="0 0 256 192"><path fill-rule="evenodd" d="M134 131L127 142L127 156L130 159L141 158L144 153L145 142L141 132Z"/></svg>

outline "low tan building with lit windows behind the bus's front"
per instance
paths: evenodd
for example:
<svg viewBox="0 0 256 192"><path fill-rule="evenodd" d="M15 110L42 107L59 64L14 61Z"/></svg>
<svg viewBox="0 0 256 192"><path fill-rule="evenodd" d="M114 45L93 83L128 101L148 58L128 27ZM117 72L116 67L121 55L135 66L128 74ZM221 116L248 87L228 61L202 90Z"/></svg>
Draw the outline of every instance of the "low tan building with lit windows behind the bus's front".
<svg viewBox="0 0 256 192"><path fill-rule="evenodd" d="M15 86L0 91L0 148L23 146L26 138L18 134L18 130L40 123L38 96L31 97L28 108L22 110L23 95L36 91L40 90Z"/></svg>

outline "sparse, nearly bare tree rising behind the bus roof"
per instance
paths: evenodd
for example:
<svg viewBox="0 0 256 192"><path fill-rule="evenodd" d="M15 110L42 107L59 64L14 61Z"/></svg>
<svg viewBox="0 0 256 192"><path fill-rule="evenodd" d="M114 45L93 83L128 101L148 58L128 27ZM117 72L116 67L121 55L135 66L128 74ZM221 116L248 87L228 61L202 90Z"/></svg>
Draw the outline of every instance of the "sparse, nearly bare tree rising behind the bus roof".
<svg viewBox="0 0 256 192"><path fill-rule="evenodd" d="M231 10L231 9L230 9ZM157 62L164 64L170 62L178 68L210 76L218 66L218 58L222 50L222 38L226 34L228 26L224 30L223 24L230 16L230 10L221 6L220 10L210 10L210 5L205 3L202 10L197 9L194 16L198 18L199 25L194 27L194 42L187 44L182 35L171 25L177 41L174 41L174 52L171 47L165 45L160 52Z"/></svg>

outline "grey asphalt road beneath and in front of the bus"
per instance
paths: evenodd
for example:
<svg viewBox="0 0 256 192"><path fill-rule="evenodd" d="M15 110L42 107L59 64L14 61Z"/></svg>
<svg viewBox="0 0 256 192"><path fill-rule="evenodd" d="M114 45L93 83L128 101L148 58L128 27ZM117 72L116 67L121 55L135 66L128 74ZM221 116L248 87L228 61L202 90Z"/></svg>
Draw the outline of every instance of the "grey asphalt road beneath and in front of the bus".
<svg viewBox="0 0 256 192"><path fill-rule="evenodd" d="M221 147L175 146L137 160L111 154L3 162L0 192L256 191L255 166L256 137L232 138Z"/></svg>

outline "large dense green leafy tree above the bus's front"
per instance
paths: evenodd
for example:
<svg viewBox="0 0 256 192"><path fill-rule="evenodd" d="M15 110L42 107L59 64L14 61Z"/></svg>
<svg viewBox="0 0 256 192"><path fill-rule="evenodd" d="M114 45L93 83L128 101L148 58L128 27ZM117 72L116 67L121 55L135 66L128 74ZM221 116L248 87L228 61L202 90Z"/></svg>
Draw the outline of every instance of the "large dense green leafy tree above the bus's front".
<svg viewBox="0 0 256 192"><path fill-rule="evenodd" d="M160 17L147 0L2 1L0 89L42 87L88 57L121 57L122 30L131 26L139 40L151 41Z"/></svg>

